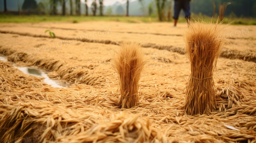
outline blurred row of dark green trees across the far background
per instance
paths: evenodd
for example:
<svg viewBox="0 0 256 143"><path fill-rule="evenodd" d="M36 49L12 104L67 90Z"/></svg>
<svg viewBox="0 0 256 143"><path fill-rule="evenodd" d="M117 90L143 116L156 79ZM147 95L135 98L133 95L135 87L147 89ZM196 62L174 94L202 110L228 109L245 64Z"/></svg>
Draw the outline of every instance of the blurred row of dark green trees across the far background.
<svg viewBox="0 0 256 143"><path fill-rule="evenodd" d="M7 0L4 0L4 11L7 12ZM84 5L85 15L88 16L89 7L92 10L94 16L96 16L97 10L99 15L103 16L104 1L92 0L91 6L88 6L88 0L41 0L38 4L35 0L24 0L22 4L22 10L34 14L57 15L57 7L62 7L62 15L66 15L67 3L70 5L70 15L81 15L81 5ZM126 16L129 16L129 0L126 1ZM143 5L143 1L138 0ZM173 12L173 0L151 0L151 3L147 6L149 16L156 12L159 21L170 20ZM227 5L228 4L228 5ZM74 6L75 5L75 6ZM98 6L99 5L99 6ZM191 0L190 2L191 12L195 14L204 14L208 16L215 15L231 15L233 17L256 17L256 1L255 0ZM19 8L19 7L18 7ZM223 10L224 8L224 10ZM75 13L74 13L75 12ZM223 13L221 13L223 12Z"/></svg>

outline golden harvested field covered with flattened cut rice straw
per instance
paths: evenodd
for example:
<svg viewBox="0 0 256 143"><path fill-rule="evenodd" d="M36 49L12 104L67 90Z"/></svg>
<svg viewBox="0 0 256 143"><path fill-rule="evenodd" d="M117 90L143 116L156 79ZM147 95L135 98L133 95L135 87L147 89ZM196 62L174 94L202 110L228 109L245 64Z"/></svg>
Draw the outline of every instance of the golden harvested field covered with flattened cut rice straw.
<svg viewBox="0 0 256 143"><path fill-rule="evenodd" d="M184 109L192 103L186 30L185 23L0 24L0 142L255 143L256 26L223 31L210 77L216 105L194 115ZM143 54L126 65L121 47ZM135 93L119 84L134 84Z"/></svg>

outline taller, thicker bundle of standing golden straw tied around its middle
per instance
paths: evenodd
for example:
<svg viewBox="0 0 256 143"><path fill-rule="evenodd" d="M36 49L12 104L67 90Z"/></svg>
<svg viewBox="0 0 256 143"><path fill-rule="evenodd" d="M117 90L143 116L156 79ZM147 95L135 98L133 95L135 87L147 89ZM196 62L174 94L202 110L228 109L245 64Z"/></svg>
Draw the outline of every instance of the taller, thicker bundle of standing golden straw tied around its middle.
<svg viewBox="0 0 256 143"><path fill-rule="evenodd" d="M189 22L183 34L185 54L191 64L191 74L185 87L184 109L187 114L206 114L216 107L213 72L224 46L221 23Z"/></svg>

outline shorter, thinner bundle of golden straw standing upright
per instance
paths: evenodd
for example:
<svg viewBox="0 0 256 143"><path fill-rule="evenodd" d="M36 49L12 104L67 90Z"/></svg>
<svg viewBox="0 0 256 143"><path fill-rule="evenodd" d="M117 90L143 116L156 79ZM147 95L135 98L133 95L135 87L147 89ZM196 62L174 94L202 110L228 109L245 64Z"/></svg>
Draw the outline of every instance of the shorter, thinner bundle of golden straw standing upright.
<svg viewBox="0 0 256 143"><path fill-rule="evenodd" d="M114 51L113 69L117 72L121 96L117 106L131 108L139 101L139 79L146 64L142 47L136 43L122 42Z"/></svg>

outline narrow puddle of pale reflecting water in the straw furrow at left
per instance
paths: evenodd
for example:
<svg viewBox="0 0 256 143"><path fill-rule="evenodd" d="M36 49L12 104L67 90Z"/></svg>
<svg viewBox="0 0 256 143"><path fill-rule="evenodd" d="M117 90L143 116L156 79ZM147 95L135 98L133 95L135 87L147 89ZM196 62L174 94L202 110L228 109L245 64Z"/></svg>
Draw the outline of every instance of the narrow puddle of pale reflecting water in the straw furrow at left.
<svg viewBox="0 0 256 143"><path fill-rule="evenodd" d="M4 56L0 56L0 60L1 61L8 61L6 57ZM23 73L28 74L28 75L32 75L32 76L36 76L36 77L43 77L44 82L51 85L52 87L59 87L59 88L67 88L66 86L62 86L60 84L58 84L57 82L55 82L54 80L51 80L48 75L40 70L34 69L32 67L19 67L19 66L15 66L13 65L15 68L21 70Z"/></svg>

